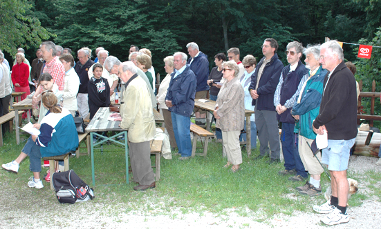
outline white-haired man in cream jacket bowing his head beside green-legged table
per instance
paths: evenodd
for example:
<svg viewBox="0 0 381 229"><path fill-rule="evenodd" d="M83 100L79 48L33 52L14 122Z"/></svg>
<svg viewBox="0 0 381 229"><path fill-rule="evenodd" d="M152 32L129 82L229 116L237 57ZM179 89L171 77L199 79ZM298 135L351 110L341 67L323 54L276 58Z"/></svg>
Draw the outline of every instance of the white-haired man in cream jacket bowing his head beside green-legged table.
<svg viewBox="0 0 381 229"><path fill-rule="evenodd" d="M129 130L127 136L133 181L139 183L133 190L155 188L149 141L155 138L156 125L149 94L150 86L137 74L137 67L131 61L120 64L118 76L125 83L126 90L120 105L120 115L115 117L121 121L121 128Z"/></svg>

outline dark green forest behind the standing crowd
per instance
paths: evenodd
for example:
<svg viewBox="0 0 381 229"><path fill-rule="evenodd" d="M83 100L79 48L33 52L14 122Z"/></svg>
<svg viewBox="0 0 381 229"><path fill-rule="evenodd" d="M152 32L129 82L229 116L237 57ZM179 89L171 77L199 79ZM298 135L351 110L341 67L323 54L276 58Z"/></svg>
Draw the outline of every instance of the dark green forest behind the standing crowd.
<svg viewBox="0 0 381 229"><path fill-rule="evenodd" d="M241 59L253 54L259 61L263 40L272 37L286 65L290 41L307 46L329 37L381 46L380 26L381 0L0 0L0 49L8 61L18 47L26 50L27 59L35 59L45 40L71 48L74 57L84 46L93 55L102 46L121 61L134 44L151 50L162 77L162 59L187 53L191 41L207 54L212 68L214 55L232 47L241 50ZM370 91L375 80L380 92L381 48L373 48L371 59L357 58L358 46L344 44L343 49L346 61L357 66L355 77L363 80L363 91ZM370 102L363 99L362 105L369 114ZM376 102L375 115L380 110Z"/></svg>

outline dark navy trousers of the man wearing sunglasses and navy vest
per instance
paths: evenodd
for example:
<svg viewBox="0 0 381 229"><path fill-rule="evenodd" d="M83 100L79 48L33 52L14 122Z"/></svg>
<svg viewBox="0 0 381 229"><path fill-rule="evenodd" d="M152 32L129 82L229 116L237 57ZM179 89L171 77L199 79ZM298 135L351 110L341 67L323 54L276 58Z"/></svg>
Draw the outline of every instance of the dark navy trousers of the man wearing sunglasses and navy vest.
<svg viewBox="0 0 381 229"><path fill-rule="evenodd" d="M297 137L294 133L295 124L282 123L281 142L284 157L284 168L292 170L295 168L297 175L308 177L303 163L301 162L298 147Z"/></svg>

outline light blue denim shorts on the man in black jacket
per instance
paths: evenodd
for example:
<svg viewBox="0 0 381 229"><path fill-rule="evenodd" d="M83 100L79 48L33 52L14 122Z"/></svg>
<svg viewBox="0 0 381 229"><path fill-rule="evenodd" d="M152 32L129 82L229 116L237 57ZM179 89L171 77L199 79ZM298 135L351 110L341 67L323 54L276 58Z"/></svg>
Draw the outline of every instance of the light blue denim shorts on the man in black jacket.
<svg viewBox="0 0 381 229"><path fill-rule="evenodd" d="M330 171L348 169L349 151L355 144L355 138L349 140L328 139L327 148L323 149L322 163L328 165Z"/></svg>

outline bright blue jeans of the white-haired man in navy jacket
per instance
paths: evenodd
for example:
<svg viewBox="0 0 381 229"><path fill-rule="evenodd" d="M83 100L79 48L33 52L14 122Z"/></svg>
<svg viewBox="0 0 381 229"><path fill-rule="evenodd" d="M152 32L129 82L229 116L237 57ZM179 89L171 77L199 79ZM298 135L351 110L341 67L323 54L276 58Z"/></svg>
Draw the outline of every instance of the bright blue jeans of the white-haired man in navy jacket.
<svg viewBox="0 0 381 229"><path fill-rule="evenodd" d="M181 157L192 156L192 142L190 139L190 118L171 112L172 128L174 129L178 153Z"/></svg>

